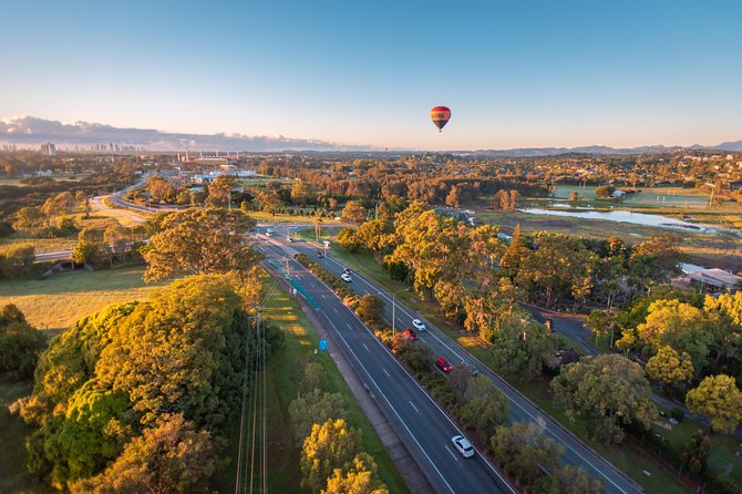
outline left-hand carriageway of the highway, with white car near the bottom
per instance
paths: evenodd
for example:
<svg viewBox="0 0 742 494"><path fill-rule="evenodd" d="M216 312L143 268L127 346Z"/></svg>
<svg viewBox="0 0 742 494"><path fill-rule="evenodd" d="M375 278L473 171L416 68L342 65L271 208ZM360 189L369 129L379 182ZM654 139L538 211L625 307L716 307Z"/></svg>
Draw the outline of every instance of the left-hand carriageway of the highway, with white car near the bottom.
<svg viewBox="0 0 742 494"><path fill-rule="evenodd" d="M264 253L286 266L284 248L260 237ZM484 456L477 453L464 459L453 447L451 438L465 434L342 300L290 257L288 264L292 278L317 307L320 319L342 346L433 488L439 493L516 493Z"/></svg>

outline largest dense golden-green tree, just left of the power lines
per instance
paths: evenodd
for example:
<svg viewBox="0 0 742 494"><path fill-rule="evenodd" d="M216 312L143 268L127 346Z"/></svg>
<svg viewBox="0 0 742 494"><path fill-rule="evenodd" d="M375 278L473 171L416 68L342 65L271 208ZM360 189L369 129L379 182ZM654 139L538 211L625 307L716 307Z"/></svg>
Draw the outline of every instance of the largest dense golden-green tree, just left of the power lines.
<svg viewBox="0 0 742 494"><path fill-rule="evenodd" d="M268 354L272 331L266 328ZM246 348L253 349L248 359L257 358L255 328L228 276L174 281L137 305L110 338L95 375L102 385L128 393L144 425L167 411L187 413L197 426L219 428L239 403Z"/></svg>

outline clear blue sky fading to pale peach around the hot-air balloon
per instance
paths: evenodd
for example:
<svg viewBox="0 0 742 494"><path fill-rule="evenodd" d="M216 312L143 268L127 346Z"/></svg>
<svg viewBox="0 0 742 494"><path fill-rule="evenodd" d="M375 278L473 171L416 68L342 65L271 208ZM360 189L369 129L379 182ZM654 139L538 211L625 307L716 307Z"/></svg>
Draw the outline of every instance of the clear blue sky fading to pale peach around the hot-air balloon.
<svg viewBox="0 0 742 494"><path fill-rule="evenodd" d="M742 140L741 19L714 0L8 1L0 119L431 151L713 145Z"/></svg>

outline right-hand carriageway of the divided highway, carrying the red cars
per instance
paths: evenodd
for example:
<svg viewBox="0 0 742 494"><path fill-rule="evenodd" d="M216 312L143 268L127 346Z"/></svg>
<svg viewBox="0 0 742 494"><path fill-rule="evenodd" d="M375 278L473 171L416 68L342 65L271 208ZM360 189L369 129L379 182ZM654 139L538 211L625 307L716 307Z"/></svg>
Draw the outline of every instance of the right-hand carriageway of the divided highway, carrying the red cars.
<svg viewBox="0 0 742 494"><path fill-rule="evenodd" d="M277 233L279 230L277 229ZM271 240L276 244L286 243L286 237L275 236ZM331 250L328 250L328 257L317 258L316 251L317 246L310 245L305 241L285 244L286 246L291 246L297 251L301 251L310 257L312 257L318 263L322 264L332 274L340 276L344 266L339 261L334 260L331 256ZM305 278L311 275L302 275ZM313 278L313 277L311 277ZM316 278L312 280L313 285L318 285L319 280ZM359 295L372 294L381 297L385 300L384 307L384 318L388 322L391 322L392 319L392 300L391 294L379 289L377 286L371 284L368 279L364 279L362 276L359 276L357 272L352 274L352 282L350 284ZM333 310L337 307L331 308ZM482 364L478 360L468 354L457 342L449 338L443 331L435 328L429 321L424 320L420 315L415 313L413 310L405 307L403 303L400 303L399 299L396 300L395 309L395 327L398 330L411 327L412 319L423 319L427 328L426 331L418 331L418 335L421 340L423 340L427 346L433 349L434 357L444 357L455 364L457 362L466 362L473 366L481 374L487 375L493 384L503 391L508 398L509 406L509 420L511 422L516 421L529 421L536 422L543 425L544 433L554 439L557 443L564 445L565 452L563 455L563 461L573 465L581 466L588 472L588 474L596 476L602 480L604 487L608 492L612 493L641 493L642 488L630 477L625 475L614 465L608 463L602 456L596 453L594 450L588 447L583 443L578 438L565 430L560 424L558 424L554 419L548 414L543 413L539 409L536 408L529 400L523 397L519 392L513 389L507 382L505 382L499 375L492 372L488 368ZM377 341L377 339L368 331L369 338L371 341ZM358 348L355 339L351 339L350 343L353 346L353 350L363 354L367 350L363 349L361 352ZM365 342L369 346L369 342ZM379 343L381 344L381 343ZM361 347L363 348L363 347ZM390 356L391 357L391 356ZM453 435L453 434L451 434ZM476 491L480 492L480 491Z"/></svg>

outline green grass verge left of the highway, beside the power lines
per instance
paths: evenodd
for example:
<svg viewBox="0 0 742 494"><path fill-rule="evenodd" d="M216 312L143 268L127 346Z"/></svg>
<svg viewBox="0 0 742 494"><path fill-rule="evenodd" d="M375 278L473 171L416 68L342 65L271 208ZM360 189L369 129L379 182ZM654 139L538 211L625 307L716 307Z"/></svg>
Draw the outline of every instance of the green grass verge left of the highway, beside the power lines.
<svg viewBox="0 0 742 494"><path fill-rule="evenodd" d="M275 281L267 276L266 289L266 308L262 313L272 325L280 327L286 335L285 348L281 352L271 357L267 364L268 490L280 493L308 493L309 490L299 486L301 483L301 472L299 470L301 450L300 445L293 442L291 438L288 406L291 400L297 397L297 382L293 379L296 362L311 353L317 348L319 339L296 301L280 290ZM381 480L389 486L391 493L409 492L387 449L359 406L332 359L326 352L319 353L315 359L327 371L329 391L342 394L348 422L362 431L364 451L377 461ZM231 446L233 451L236 451L236 444L231 444ZM235 471L236 463L233 459L226 473L226 475L231 474L233 476L233 490ZM228 476L225 476L225 478L228 478ZM227 485L223 485L223 492L226 492L227 487Z"/></svg>

